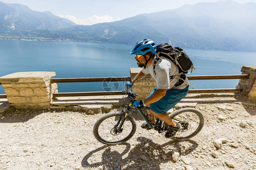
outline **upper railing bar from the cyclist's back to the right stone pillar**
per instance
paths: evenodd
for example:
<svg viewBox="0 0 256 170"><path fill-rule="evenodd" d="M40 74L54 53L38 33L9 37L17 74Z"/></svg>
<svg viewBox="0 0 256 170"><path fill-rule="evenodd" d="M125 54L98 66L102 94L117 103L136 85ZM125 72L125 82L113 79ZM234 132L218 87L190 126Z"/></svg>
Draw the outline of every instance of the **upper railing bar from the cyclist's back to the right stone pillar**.
<svg viewBox="0 0 256 170"><path fill-rule="evenodd" d="M250 75L190 75L189 80L249 79Z"/></svg>

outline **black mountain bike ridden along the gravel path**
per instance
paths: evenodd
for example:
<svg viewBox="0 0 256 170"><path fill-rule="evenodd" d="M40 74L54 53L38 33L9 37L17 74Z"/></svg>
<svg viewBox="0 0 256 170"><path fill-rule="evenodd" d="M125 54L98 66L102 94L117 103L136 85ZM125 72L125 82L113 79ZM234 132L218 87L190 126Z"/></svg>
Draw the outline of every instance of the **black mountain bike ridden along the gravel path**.
<svg viewBox="0 0 256 170"><path fill-rule="evenodd" d="M100 117L94 127L93 134L95 138L106 145L117 145L129 140L136 131L136 123L131 110L136 110L143 120L149 125L148 130L157 130L159 133L164 133L168 130L168 124L156 117L154 124L150 123L150 115L147 114L149 107L134 108L136 93L132 92L131 87L126 87L126 95L129 101L124 99L122 111L111 112ZM188 140L197 135L202 130L204 125L204 116L195 108L182 108L171 113L170 118L181 125L181 130L176 133L171 139L175 141Z"/></svg>

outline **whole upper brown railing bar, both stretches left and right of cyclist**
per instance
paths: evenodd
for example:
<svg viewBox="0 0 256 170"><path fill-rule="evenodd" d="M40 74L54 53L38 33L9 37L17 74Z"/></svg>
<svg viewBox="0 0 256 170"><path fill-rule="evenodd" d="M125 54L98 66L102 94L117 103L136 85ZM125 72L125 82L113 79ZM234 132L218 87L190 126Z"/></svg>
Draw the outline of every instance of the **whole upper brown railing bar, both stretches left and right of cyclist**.
<svg viewBox="0 0 256 170"><path fill-rule="evenodd" d="M249 79L250 75L190 75L189 80L221 80L221 79ZM58 78L51 79L52 83L128 81L131 77L93 77L93 78Z"/></svg>

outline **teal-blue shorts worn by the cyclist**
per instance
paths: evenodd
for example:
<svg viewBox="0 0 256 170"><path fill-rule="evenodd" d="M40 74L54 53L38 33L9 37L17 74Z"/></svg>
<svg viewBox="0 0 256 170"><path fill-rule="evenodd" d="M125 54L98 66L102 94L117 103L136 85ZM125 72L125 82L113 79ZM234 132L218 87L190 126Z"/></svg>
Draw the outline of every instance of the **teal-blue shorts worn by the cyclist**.
<svg viewBox="0 0 256 170"><path fill-rule="evenodd" d="M152 90L148 97L151 96L156 90L157 87ZM172 109L177 103L179 103L179 101L188 94L188 91L189 87L186 87L182 90L167 90L164 97L150 105L150 109L157 114L166 113L168 110Z"/></svg>

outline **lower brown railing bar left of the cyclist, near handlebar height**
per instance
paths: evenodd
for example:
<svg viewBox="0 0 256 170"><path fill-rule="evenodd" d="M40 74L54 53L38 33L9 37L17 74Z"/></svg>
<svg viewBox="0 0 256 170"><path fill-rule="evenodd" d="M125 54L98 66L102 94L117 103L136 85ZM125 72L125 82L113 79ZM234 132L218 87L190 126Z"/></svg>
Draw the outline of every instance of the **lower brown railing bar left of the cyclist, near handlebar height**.
<svg viewBox="0 0 256 170"><path fill-rule="evenodd" d="M123 91L94 91L94 92L73 92L73 93L53 93L54 97L74 97L74 96L94 96L94 95L124 95Z"/></svg>

